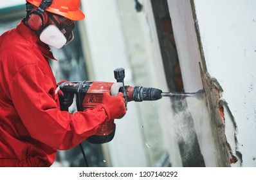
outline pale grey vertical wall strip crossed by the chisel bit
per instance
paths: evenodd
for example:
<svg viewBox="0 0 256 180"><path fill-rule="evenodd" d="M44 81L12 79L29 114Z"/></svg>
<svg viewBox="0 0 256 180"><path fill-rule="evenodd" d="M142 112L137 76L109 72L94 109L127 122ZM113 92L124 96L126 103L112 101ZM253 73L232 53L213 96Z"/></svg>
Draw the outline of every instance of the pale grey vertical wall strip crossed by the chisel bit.
<svg viewBox="0 0 256 180"><path fill-rule="evenodd" d="M186 92L196 92L203 88L199 70L201 62L199 46L197 44L196 30L190 1L169 0L169 11L172 19L174 37L179 56L179 64L183 78L184 89ZM205 101L199 101L196 98L187 98L188 111L194 120L194 129L201 154L204 157L206 167L216 167L214 140L210 129L210 118L206 109ZM179 116L175 118L180 118ZM175 120L174 120L175 122ZM176 120L176 126L181 126L181 121ZM174 124L175 126L175 124ZM193 128L193 127L191 127ZM183 132L180 136L185 137L189 142L188 132ZM173 150L173 154L177 154ZM174 166L179 166L175 161Z"/></svg>

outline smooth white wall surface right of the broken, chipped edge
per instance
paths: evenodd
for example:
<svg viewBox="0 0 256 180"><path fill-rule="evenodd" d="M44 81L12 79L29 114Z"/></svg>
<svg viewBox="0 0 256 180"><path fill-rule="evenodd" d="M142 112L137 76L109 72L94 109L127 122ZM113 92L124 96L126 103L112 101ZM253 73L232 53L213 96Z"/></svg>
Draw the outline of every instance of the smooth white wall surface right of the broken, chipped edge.
<svg viewBox="0 0 256 180"><path fill-rule="evenodd" d="M210 76L237 123L242 166L256 167L256 1L194 0ZM226 128L226 134L233 133ZM233 140L234 141L234 140Z"/></svg>

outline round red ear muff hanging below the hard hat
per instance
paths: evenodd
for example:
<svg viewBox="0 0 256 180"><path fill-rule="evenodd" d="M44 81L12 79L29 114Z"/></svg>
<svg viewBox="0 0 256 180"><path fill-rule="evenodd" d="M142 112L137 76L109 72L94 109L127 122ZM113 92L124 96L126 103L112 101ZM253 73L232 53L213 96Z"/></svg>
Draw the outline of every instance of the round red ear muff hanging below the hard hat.
<svg viewBox="0 0 256 180"><path fill-rule="evenodd" d="M48 23L48 13L40 12L38 9L32 10L26 16L26 22L32 30L42 31L44 26Z"/></svg>

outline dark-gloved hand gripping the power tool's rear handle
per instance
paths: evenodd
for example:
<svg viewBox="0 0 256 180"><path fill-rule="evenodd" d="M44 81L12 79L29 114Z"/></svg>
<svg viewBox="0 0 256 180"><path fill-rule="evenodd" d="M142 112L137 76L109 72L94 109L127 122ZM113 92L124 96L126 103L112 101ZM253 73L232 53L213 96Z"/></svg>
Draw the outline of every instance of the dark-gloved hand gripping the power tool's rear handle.
<svg viewBox="0 0 256 180"><path fill-rule="evenodd" d="M59 85L62 82L67 82L67 81L62 80L57 85ZM60 110L68 111L68 107L70 107L70 105L73 104L74 93L64 92L59 89L58 95L59 95L59 101L60 101Z"/></svg>

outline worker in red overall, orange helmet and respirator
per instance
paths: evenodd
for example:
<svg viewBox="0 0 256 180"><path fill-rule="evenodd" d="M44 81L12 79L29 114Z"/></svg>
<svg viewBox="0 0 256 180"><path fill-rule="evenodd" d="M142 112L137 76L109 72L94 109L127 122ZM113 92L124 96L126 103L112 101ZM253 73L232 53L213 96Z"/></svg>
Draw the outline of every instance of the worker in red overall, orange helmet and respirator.
<svg viewBox="0 0 256 180"><path fill-rule="evenodd" d="M83 112L60 111L50 46L73 39L74 21L85 17L79 6L80 0L27 0L26 17L0 37L0 167L50 167L57 150L126 113L122 93L104 93L102 104ZM64 97L71 105L73 96Z"/></svg>

